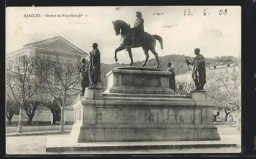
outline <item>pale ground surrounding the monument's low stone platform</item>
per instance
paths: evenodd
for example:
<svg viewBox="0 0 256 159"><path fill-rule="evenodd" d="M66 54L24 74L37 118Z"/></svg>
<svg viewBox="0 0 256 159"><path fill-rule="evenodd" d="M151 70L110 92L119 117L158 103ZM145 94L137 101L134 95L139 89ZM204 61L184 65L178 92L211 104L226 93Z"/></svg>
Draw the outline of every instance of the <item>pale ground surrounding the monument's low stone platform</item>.
<svg viewBox="0 0 256 159"><path fill-rule="evenodd" d="M236 140L241 143L241 134L236 130L236 127L218 126L218 131L221 138L229 139L230 141ZM29 136L15 136L7 137L6 139L6 152L7 154L47 154L46 141L47 138L53 135L29 135ZM54 135L61 136L61 135ZM63 136L63 135L62 135ZM174 149L174 150L137 150L137 151L87 151L83 154L93 153L215 153L215 152L240 152L240 148L207 148L207 149ZM81 153L81 152L62 152L63 153Z"/></svg>

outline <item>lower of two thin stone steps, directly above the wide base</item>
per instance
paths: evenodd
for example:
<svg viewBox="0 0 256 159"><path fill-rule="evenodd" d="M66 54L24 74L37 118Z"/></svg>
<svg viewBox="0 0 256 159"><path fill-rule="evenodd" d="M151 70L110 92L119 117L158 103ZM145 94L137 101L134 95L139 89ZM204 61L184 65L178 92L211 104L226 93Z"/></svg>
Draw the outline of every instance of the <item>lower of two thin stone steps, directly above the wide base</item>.
<svg viewBox="0 0 256 159"><path fill-rule="evenodd" d="M103 100L122 100L122 101L182 101L182 102L194 102L194 99L190 98L168 98L168 97L114 97L103 96Z"/></svg>

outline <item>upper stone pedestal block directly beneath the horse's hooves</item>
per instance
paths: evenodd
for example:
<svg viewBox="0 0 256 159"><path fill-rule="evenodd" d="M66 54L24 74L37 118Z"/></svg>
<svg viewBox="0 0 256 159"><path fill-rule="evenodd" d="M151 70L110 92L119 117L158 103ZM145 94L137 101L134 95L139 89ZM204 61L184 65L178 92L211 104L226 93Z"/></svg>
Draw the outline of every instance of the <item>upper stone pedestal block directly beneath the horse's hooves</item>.
<svg viewBox="0 0 256 159"><path fill-rule="evenodd" d="M167 71L146 67L118 67L106 74L106 93L174 94Z"/></svg>

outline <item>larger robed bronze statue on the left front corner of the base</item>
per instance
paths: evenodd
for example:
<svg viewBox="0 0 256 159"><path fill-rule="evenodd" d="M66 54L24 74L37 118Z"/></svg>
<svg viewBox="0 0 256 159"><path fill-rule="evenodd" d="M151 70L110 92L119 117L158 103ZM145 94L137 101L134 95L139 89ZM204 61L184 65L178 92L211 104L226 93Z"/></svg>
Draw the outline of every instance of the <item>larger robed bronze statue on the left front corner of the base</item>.
<svg viewBox="0 0 256 159"><path fill-rule="evenodd" d="M93 50L90 52L89 77L91 87L97 87L100 82L100 51L97 43L93 43Z"/></svg>

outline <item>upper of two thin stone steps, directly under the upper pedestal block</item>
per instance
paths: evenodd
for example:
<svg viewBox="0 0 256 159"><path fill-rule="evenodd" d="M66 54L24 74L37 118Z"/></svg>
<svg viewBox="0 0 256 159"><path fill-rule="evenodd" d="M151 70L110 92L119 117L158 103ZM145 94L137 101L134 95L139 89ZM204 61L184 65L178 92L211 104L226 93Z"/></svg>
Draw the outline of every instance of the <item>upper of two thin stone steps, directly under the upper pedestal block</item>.
<svg viewBox="0 0 256 159"><path fill-rule="evenodd" d="M115 97L145 97L145 98L189 98L188 95L170 95L170 94L131 94L131 93L103 93L103 96Z"/></svg>

